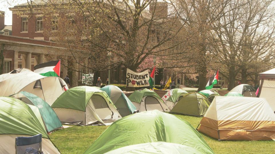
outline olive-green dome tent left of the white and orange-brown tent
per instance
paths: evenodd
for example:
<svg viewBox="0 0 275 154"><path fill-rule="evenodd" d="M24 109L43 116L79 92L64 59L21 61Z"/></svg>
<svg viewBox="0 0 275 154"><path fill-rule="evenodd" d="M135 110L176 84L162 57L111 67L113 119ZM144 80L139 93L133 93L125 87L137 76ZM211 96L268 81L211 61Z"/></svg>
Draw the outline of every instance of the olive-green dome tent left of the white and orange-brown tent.
<svg viewBox="0 0 275 154"><path fill-rule="evenodd" d="M170 113L201 117L205 114L210 104L209 100L202 94L191 92L180 96Z"/></svg>

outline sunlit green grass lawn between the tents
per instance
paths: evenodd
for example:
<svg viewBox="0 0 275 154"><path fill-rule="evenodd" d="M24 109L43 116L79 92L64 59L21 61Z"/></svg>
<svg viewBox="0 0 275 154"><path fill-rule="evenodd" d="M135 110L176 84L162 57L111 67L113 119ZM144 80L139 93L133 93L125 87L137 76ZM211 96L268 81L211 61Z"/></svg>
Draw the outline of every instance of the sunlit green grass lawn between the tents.
<svg viewBox="0 0 275 154"><path fill-rule="evenodd" d="M201 117L176 115L197 127ZM108 126L73 126L50 134L61 153L84 153ZM201 134L215 153L275 153L275 141L217 141Z"/></svg>

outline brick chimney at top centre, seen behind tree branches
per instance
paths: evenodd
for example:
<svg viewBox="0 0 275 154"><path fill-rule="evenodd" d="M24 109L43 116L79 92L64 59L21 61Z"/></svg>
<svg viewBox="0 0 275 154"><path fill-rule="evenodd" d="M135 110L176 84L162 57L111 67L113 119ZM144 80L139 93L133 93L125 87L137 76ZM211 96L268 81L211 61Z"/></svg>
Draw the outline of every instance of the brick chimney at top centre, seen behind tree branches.
<svg viewBox="0 0 275 154"><path fill-rule="evenodd" d="M156 17L166 18L168 16L168 5L165 2L153 2L150 3L149 11Z"/></svg>

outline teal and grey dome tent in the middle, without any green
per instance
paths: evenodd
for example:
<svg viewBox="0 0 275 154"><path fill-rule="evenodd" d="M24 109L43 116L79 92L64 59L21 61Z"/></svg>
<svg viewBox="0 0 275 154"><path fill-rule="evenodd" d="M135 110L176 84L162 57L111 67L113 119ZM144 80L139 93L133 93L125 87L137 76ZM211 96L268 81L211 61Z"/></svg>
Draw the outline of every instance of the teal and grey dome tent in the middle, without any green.
<svg viewBox="0 0 275 154"><path fill-rule="evenodd" d="M122 90L117 86L108 85L100 90L105 91L108 94L122 117L133 114L133 112L137 110L129 98L127 98Z"/></svg>

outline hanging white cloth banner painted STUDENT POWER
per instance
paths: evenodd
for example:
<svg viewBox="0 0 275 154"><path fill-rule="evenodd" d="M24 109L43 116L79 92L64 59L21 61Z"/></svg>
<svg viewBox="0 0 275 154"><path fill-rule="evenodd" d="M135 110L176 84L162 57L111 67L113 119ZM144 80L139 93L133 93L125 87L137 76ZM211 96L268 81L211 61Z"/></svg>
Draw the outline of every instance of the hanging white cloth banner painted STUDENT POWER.
<svg viewBox="0 0 275 154"><path fill-rule="evenodd" d="M126 73L126 86L128 87L148 87L149 85L149 72L134 72L127 68Z"/></svg>

